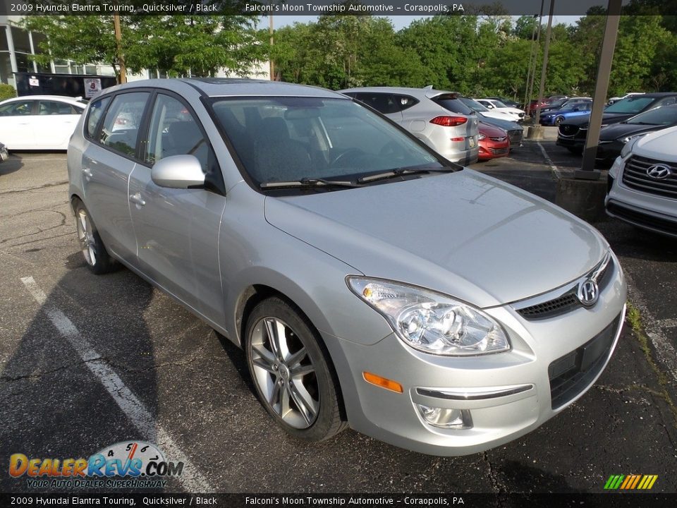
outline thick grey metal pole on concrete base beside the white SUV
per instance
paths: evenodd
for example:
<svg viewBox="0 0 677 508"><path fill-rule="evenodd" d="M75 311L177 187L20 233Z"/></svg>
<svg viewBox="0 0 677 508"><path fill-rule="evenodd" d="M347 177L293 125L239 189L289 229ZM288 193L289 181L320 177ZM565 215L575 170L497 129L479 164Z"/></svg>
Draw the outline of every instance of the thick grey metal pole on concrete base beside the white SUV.
<svg viewBox="0 0 677 508"><path fill-rule="evenodd" d="M599 131L602 128L602 114L604 114L606 92L609 90L609 74L611 73L611 63L614 61L614 49L616 47L618 21L620 18L621 0L609 0L609 6L606 8L606 26L604 27L602 51L599 53L597 84L594 87L590 124L587 129L585 149L583 150L583 164L581 169L575 171L574 174L574 177L577 179L599 179L599 171L594 170L594 159L597 156Z"/></svg>

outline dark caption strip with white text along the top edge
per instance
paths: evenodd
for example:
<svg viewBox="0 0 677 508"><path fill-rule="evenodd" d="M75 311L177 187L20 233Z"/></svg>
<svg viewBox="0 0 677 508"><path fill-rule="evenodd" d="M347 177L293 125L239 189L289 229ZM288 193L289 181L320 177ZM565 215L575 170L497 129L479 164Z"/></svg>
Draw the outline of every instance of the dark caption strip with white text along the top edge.
<svg viewBox="0 0 677 508"><path fill-rule="evenodd" d="M606 13L609 0L553 0L556 16L584 16L590 8ZM511 15L532 16L541 0L0 0L0 16L377 16ZM544 0L543 14L550 0ZM677 0L623 0L624 13L677 15Z"/></svg>

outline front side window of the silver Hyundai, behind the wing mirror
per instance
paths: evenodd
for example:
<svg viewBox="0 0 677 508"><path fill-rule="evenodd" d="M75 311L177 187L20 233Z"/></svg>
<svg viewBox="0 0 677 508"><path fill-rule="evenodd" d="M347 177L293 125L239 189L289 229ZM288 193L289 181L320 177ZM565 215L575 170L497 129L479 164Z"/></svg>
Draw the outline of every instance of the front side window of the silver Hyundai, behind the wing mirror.
<svg viewBox="0 0 677 508"><path fill-rule="evenodd" d="M195 155L206 174L209 170L210 149L200 126L185 105L158 94L150 117L145 162L155 164L172 155Z"/></svg>

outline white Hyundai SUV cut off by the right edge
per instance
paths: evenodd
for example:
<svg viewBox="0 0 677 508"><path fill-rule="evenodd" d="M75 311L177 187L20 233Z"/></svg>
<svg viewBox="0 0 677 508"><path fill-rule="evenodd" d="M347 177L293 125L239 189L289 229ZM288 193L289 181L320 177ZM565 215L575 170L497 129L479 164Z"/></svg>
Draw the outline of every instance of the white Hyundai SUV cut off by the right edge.
<svg viewBox="0 0 677 508"><path fill-rule="evenodd" d="M606 213L677 236L677 127L626 143L609 169Z"/></svg>

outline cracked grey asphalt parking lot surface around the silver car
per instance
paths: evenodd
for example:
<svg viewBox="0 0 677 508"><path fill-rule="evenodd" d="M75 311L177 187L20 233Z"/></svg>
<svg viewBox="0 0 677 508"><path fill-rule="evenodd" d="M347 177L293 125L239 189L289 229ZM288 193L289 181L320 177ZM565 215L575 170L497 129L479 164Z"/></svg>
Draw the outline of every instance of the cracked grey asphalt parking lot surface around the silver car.
<svg viewBox="0 0 677 508"><path fill-rule="evenodd" d="M554 200L550 166L578 164L543 140L473 169ZM0 164L0 203L1 492L31 491L7 473L13 453L90 456L126 440L185 460L168 492L604 492L612 474L658 475L653 492L677 492L677 241L594 224L630 285L609 367L535 432L439 458L352 430L309 445L273 425L240 350L128 270L87 270L65 154L13 154Z"/></svg>

